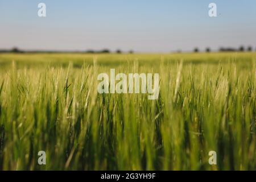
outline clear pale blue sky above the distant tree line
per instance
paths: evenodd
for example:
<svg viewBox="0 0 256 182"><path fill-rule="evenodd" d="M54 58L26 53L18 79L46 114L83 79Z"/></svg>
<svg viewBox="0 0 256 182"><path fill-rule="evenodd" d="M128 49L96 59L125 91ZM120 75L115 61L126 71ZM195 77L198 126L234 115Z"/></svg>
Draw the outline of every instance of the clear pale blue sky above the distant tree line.
<svg viewBox="0 0 256 182"><path fill-rule="evenodd" d="M46 3L46 18L38 3ZM217 18L208 16L210 2ZM255 0L0 0L0 48L170 52L256 47Z"/></svg>

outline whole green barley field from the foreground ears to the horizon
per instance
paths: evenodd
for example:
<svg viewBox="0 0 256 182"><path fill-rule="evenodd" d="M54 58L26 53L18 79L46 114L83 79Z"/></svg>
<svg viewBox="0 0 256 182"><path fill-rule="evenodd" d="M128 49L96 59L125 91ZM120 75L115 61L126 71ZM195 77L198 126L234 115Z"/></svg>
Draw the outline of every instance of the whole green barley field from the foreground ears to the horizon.
<svg viewBox="0 0 256 182"><path fill-rule="evenodd" d="M158 100L98 94L110 68ZM255 52L0 54L1 170L256 170L255 132Z"/></svg>

